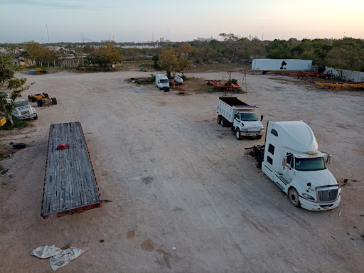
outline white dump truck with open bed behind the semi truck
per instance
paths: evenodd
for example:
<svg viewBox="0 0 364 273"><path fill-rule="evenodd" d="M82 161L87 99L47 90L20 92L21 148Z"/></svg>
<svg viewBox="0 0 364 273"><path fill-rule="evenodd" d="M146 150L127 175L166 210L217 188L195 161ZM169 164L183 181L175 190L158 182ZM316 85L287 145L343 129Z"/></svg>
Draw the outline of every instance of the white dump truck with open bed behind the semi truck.
<svg viewBox="0 0 364 273"><path fill-rule="evenodd" d="M264 125L262 124L263 116L260 120L255 114L255 106L247 105L237 97L218 97L218 124L228 127L232 124L232 130L235 131L237 140L242 137L262 138Z"/></svg>

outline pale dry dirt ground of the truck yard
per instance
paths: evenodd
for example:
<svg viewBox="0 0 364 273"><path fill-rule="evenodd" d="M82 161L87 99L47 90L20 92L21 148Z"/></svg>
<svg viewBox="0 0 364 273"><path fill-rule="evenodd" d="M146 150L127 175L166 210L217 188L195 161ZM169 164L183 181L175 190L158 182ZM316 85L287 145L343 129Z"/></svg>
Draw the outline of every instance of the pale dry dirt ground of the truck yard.
<svg viewBox="0 0 364 273"><path fill-rule="evenodd" d="M238 95L265 125L309 124L333 175L349 179L339 208L311 212L294 208L244 156L264 138L237 141L215 122L223 92L181 96L124 81L147 75L26 75L36 85L24 97L48 92L58 105L36 107L31 127L0 132L0 144L28 144L1 161L9 172L0 177L0 272L51 272L48 259L30 255L39 245L85 250L58 272L363 272L363 90L255 74ZM76 121L104 203L43 220L49 125Z"/></svg>

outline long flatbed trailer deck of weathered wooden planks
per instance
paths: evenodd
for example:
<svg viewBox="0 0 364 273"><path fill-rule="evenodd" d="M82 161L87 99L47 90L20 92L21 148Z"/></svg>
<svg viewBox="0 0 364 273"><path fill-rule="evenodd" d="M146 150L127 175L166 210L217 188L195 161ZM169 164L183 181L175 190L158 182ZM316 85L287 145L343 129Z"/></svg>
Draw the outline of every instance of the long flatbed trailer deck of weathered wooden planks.
<svg viewBox="0 0 364 273"><path fill-rule="evenodd" d="M57 150L59 144L70 148ZM51 124L41 216L78 213L101 203L80 122Z"/></svg>

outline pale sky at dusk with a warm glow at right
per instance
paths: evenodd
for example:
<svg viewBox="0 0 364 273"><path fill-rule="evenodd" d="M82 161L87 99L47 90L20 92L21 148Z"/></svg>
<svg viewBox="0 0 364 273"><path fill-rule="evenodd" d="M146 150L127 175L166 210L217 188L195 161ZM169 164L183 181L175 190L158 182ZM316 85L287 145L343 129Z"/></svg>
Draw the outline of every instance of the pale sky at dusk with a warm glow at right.
<svg viewBox="0 0 364 273"><path fill-rule="evenodd" d="M0 0L0 43L364 38L364 0Z"/></svg>

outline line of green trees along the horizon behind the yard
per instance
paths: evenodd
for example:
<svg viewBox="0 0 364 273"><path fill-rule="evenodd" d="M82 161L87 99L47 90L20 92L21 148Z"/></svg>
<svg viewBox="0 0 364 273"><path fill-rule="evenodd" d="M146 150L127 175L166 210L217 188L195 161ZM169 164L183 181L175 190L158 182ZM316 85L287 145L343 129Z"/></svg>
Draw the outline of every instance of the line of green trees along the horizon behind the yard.
<svg viewBox="0 0 364 273"><path fill-rule="evenodd" d="M154 60L154 66L166 70L168 74L183 73L191 63L242 63L254 58L306 59L313 60L313 65L319 69L328 66L364 71L364 40L349 37L260 41L241 38L232 33L220 33L219 40L159 43L160 46L156 48L122 48L122 45L126 45L122 43L64 43L65 49L53 50L49 45L31 41L11 46L21 48L24 57L38 63L53 63L72 52L75 58L87 55L88 63L100 66L112 65L122 60Z"/></svg>

